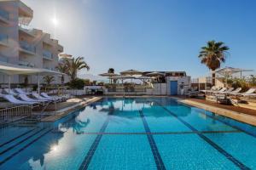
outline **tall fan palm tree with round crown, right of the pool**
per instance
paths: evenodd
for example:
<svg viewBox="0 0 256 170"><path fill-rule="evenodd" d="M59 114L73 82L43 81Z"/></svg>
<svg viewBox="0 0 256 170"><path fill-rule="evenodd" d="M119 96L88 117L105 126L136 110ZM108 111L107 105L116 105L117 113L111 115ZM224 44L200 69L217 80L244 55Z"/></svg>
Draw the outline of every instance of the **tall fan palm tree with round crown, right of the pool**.
<svg viewBox="0 0 256 170"><path fill-rule="evenodd" d="M214 40L207 42L207 46L201 48L199 58L201 63L207 65L207 67L215 71L225 62L228 54L228 48L224 45L224 42L215 42ZM212 85L215 85L215 73L212 73Z"/></svg>

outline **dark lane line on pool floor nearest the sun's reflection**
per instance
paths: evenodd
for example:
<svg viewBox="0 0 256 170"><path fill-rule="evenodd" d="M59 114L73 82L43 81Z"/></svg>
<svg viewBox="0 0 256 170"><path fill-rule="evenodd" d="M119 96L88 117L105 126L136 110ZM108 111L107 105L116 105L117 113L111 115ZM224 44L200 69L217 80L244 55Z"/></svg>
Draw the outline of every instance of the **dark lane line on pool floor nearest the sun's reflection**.
<svg viewBox="0 0 256 170"><path fill-rule="evenodd" d="M87 155L84 157L84 161L81 163L79 170L84 170L89 167L92 156L94 155L94 153L98 147L98 144L100 143L100 141L102 139L102 133L105 132L105 130L108 126L109 120L110 120L110 116L107 117L106 121L102 125L100 133L96 136L96 139L94 140L93 144L91 144L90 150L87 152Z"/></svg>

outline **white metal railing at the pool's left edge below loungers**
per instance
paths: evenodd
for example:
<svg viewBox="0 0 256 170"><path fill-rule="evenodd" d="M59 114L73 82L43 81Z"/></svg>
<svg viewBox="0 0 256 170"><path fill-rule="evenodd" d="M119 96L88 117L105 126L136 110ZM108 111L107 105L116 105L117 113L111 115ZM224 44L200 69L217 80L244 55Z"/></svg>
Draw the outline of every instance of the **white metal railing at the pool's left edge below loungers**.
<svg viewBox="0 0 256 170"><path fill-rule="evenodd" d="M0 110L0 124L13 122L21 117L31 116L31 105L18 105Z"/></svg>

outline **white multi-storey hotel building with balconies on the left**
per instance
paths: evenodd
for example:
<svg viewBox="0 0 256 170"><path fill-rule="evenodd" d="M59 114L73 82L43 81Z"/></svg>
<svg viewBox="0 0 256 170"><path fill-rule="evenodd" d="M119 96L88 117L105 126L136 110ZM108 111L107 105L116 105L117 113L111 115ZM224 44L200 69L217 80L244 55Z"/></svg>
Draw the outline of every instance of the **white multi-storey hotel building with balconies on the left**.
<svg viewBox="0 0 256 170"><path fill-rule="evenodd" d="M32 17L32 8L20 0L0 0L0 62L55 70L63 47L42 30L26 29ZM11 82L22 83L24 77L12 77ZM28 79L38 82L35 76ZM60 82L59 77L55 80ZM7 82L8 77L0 75L0 83Z"/></svg>

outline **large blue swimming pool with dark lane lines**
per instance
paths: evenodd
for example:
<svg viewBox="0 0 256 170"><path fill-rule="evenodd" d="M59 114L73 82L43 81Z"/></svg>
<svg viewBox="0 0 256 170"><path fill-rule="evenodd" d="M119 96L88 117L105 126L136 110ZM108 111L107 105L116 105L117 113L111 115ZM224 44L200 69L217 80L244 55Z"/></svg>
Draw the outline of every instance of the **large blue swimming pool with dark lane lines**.
<svg viewBox="0 0 256 170"><path fill-rule="evenodd" d="M0 135L0 169L256 169L255 127L170 98L105 98Z"/></svg>

